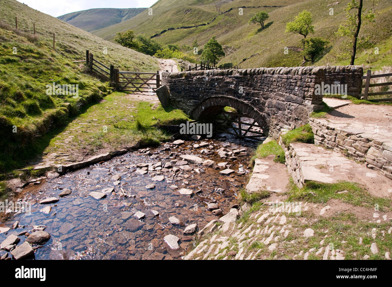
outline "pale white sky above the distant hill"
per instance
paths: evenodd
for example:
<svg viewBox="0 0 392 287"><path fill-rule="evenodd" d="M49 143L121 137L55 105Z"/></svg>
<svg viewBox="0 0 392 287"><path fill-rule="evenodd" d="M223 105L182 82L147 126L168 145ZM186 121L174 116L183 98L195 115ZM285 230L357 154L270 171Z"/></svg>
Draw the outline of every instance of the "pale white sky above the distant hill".
<svg viewBox="0 0 392 287"><path fill-rule="evenodd" d="M53 17L92 8L147 8L158 0L18 0Z"/></svg>

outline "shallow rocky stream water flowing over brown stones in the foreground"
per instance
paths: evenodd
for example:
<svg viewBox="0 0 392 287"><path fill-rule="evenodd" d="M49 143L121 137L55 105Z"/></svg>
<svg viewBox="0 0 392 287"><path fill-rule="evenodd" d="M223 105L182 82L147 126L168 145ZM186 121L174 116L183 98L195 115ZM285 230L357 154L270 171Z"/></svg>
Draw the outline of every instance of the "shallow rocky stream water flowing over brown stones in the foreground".
<svg viewBox="0 0 392 287"><path fill-rule="evenodd" d="M175 259L181 258L194 244L195 234L183 233L189 224L197 223L199 229L212 219L220 216L206 209L207 204L216 202L223 215L238 203L236 195L246 182L250 172L249 159L255 141L238 140L227 135L225 139L206 139L208 146L194 148L201 141L185 141L180 146L162 144L158 148L141 149L114 157L110 161L67 173L41 184L30 184L19 195L19 200L31 202L31 213L3 215L1 227L11 227L18 220L23 228L12 229L7 235L0 234L0 242L7 236L30 231L34 225L47 226L45 231L50 240L36 249L35 259ZM218 150L228 152L243 150L221 158ZM201 153L202 152L202 153ZM238 152L238 151L237 151ZM216 163L228 162L227 168L235 170L230 175L221 175L225 168L213 168L202 164L189 163L189 168L174 172L173 168L153 168L152 165L181 160L180 155L191 154L203 160L211 159ZM148 163L149 170L140 174L136 164ZM159 164L158 164L159 165ZM147 168L144 168L147 169ZM115 182L114 175L120 175ZM152 181L152 177L163 175L165 180ZM153 189L147 184L155 184ZM170 186L178 189L172 190ZM89 196L91 191L101 192L114 187L103 199ZM72 193L58 197L63 189ZM120 189L128 196L123 196ZM181 195L178 191L187 188L192 196ZM219 192L218 188L223 188ZM218 191L217 191L218 190ZM54 204L39 204L48 197L58 197ZM40 209L51 206L45 214ZM154 216L152 210L158 211ZM134 213L142 211L145 217L138 220ZM169 217L176 217L180 224L171 224ZM196 231L197 232L197 231ZM163 240L166 235L180 238L180 249L170 249ZM20 235L20 243L25 236ZM5 251L0 251L0 256Z"/></svg>

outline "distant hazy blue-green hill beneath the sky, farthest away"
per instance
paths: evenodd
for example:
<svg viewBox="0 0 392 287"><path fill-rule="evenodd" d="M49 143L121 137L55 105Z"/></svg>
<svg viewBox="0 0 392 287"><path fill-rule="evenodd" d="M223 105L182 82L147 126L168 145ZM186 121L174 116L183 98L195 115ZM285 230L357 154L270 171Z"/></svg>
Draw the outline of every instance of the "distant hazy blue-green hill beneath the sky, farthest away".
<svg viewBox="0 0 392 287"><path fill-rule="evenodd" d="M87 32L131 19L146 8L96 8L68 13L57 18Z"/></svg>

